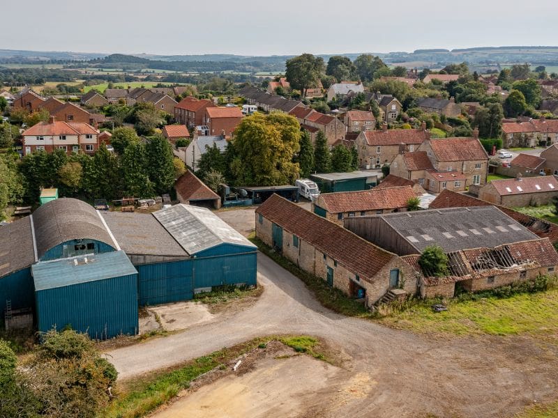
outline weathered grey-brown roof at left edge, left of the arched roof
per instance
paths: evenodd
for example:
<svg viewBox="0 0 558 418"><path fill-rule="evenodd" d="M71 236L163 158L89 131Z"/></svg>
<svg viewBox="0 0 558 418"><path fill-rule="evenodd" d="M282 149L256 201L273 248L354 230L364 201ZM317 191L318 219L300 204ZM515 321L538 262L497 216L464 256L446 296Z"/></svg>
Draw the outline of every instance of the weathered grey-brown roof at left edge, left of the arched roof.
<svg viewBox="0 0 558 418"><path fill-rule="evenodd" d="M35 262L31 217L0 226L0 277Z"/></svg>

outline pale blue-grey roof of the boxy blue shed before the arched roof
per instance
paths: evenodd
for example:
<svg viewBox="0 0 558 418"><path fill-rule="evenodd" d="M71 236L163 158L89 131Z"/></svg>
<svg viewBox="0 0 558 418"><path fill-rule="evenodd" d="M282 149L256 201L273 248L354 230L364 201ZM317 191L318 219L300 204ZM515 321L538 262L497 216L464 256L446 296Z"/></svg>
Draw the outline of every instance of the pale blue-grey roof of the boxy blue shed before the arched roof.
<svg viewBox="0 0 558 418"><path fill-rule="evenodd" d="M31 267L35 291L137 274L124 251L43 261Z"/></svg>

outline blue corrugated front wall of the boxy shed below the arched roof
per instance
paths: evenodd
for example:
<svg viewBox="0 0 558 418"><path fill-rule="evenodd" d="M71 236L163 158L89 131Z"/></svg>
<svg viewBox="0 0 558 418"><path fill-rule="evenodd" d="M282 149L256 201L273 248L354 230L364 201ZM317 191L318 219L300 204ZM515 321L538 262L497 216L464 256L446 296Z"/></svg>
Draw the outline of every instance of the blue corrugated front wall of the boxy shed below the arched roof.
<svg viewBox="0 0 558 418"><path fill-rule="evenodd" d="M40 332L71 325L109 339L138 331L137 274L36 291L35 300Z"/></svg>

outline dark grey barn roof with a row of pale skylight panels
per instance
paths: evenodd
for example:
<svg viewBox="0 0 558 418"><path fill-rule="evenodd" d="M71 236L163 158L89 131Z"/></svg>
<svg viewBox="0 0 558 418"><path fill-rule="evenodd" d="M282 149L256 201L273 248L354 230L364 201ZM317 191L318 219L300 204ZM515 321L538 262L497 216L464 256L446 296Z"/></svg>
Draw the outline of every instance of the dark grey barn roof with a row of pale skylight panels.
<svg viewBox="0 0 558 418"><path fill-rule="evenodd" d="M494 206L420 210L377 217L418 251L433 244L444 251L458 251L537 239L525 226Z"/></svg>

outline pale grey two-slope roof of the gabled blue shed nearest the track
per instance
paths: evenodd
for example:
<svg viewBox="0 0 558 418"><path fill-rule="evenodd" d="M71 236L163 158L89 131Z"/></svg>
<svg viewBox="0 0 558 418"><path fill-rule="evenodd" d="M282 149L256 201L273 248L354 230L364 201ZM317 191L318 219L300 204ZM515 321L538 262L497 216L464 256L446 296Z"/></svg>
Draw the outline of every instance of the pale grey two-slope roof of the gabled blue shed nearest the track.
<svg viewBox="0 0 558 418"><path fill-rule="evenodd" d="M190 255L221 244L255 248L209 209L180 204L158 210L153 216Z"/></svg>

